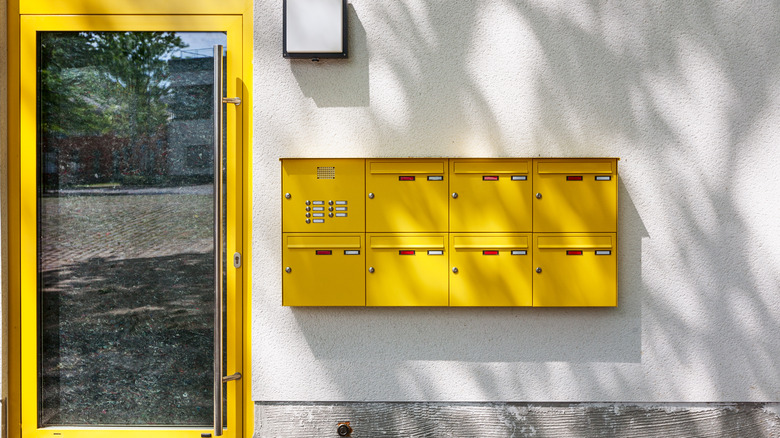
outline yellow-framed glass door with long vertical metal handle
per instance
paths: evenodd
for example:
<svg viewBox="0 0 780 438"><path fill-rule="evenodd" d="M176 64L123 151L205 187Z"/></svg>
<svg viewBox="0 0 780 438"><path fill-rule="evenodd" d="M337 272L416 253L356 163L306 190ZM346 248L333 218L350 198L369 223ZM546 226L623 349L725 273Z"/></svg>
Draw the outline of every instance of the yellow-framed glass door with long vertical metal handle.
<svg viewBox="0 0 780 438"><path fill-rule="evenodd" d="M240 19L22 33L23 436L240 436Z"/></svg>

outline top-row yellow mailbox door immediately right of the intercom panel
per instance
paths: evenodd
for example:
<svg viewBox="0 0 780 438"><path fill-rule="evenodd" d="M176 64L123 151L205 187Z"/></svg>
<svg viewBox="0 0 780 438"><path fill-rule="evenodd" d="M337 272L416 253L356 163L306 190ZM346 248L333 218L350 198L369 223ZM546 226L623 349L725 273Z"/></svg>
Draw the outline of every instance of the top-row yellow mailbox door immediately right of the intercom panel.
<svg viewBox="0 0 780 438"><path fill-rule="evenodd" d="M447 160L366 160L366 231L447 232Z"/></svg>

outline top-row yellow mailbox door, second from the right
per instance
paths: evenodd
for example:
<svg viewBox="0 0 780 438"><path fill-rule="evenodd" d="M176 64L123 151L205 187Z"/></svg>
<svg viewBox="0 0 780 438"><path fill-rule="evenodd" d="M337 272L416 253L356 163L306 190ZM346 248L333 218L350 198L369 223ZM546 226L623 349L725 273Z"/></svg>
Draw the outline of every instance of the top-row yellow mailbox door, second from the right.
<svg viewBox="0 0 780 438"><path fill-rule="evenodd" d="M530 232L530 169L531 160L451 159L450 232Z"/></svg>

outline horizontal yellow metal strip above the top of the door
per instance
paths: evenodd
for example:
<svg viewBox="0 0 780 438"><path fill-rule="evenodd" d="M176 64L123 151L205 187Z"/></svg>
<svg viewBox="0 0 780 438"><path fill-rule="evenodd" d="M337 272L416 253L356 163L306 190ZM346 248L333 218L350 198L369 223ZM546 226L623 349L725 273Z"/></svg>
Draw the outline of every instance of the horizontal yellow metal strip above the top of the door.
<svg viewBox="0 0 780 438"><path fill-rule="evenodd" d="M21 0L22 14L241 14L246 0ZM161 29L163 30L163 29Z"/></svg>

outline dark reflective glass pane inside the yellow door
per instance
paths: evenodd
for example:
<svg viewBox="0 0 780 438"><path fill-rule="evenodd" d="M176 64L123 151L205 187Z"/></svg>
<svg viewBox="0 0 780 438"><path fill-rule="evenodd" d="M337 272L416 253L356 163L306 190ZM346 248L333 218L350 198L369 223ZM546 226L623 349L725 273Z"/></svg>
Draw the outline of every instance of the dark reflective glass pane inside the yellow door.
<svg viewBox="0 0 780 438"><path fill-rule="evenodd" d="M40 426L212 426L214 44L38 34Z"/></svg>

